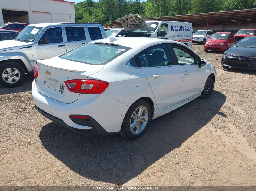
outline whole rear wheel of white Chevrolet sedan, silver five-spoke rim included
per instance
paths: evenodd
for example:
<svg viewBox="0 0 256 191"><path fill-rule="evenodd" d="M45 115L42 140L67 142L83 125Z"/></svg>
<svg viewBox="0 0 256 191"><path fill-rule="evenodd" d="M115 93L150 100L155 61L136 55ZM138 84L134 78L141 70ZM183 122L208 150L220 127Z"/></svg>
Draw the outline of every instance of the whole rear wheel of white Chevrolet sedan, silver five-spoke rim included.
<svg viewBox="0 0 256 191"><path fill-rule="evenodd" d="M139 138L145 133L151 116L148 102L138 100L128 109L123 120L120 134L129 139Z"/></svg>

